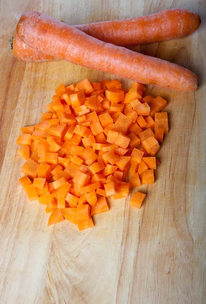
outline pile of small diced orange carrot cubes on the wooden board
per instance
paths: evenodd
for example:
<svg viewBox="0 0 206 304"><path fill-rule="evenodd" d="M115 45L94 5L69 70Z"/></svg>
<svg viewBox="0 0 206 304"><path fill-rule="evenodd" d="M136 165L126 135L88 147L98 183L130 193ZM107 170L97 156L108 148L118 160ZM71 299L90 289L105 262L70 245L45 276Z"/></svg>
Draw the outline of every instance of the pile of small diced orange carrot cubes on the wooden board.
<svg viewBox="0 0 206 304"><path fill-rule="evenodd" d="M107 198L155 182L167 101L144 95L142 84L126 92L117 79L61 85L40 123L21 128L19 181L30 201L52 212L48 225L68 219L80 231L92 227L92 215L109 211ZM144 198L134 192L130 205L140 208Z"/></svg>

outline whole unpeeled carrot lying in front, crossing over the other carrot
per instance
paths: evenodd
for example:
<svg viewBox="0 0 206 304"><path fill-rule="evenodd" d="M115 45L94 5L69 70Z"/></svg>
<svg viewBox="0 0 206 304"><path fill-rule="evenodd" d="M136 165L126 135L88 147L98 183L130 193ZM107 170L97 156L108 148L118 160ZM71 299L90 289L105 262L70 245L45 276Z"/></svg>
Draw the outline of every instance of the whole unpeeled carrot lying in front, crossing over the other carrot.
<svg viewBox="0 0 206 304"><path fill-rule="evenodd" d="M78 65L178 91L198 87L197 77L190 70L99 41L39 12L22 15L17 32L29 46Z"/></svg>

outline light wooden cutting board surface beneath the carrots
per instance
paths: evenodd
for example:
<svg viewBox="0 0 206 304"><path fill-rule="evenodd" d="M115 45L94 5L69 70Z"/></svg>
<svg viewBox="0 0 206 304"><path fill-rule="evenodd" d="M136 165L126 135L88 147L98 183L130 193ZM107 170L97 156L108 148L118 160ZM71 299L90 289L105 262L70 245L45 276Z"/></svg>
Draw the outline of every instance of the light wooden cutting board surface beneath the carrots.
<svg viewBox="0 0 206 304"><path fill-rule="evenodd" d="M22 13L37 10L71 25L131 18L168 8L199 13L202 25L184 39L134 48L191 68L196 93L147 87L169 101L170 132L159 153L156 183L140 210L127 200L79 232L48 215L18 184L23 161L16 138L35 124L61 83L113 75L67 62L23 63L8 48ZM205 295L205 3L197 0L5 0L0 3L1 304L204 304ZM124 86L130 81L121 80Z"/></svg>

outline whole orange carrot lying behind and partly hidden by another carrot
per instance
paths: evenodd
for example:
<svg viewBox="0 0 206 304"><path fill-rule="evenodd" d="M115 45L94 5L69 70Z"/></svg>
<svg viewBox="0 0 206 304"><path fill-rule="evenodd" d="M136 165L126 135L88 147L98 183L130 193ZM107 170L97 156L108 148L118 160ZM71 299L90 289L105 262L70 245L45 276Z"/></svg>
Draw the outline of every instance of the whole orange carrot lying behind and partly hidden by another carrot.
<svg viewBox="0 0 206 304"><path fill-rule="evenodd" d="M75 27L101 41L117 46L132 46L183 37L194 32L200 25L199 15L187 10L166 10L149 16L128 20L113 20L76 25ZM49 61L46 55L27 46L14 35L14 55L23 61Z"/></svg>

